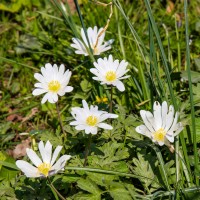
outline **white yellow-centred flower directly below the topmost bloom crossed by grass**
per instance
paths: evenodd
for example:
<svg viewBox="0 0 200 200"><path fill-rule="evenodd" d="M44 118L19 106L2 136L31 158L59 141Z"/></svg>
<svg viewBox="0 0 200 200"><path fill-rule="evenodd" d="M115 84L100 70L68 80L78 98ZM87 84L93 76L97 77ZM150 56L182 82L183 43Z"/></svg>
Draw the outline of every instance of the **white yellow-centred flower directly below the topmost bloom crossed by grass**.
<svg viewBox="0 0 200 200"><path fill-rule="evenodd" d="M128 76L124 76L129 70L126 69L128 63L122 60L113 60L112 55L109 55L108 59L99 58L97 62L94 62L95 68L91 68L92 72L96 77L92 77L94 80L101 81L101 84L116 86L119 91L124 91L125 87L121 79L126 79Z"/></svg>

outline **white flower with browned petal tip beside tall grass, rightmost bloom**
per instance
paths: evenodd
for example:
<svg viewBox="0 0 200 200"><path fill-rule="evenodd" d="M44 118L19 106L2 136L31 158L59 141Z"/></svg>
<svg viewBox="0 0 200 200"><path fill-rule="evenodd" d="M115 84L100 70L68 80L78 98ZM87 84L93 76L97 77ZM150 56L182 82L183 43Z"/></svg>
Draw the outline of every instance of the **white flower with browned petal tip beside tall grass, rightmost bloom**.
<svg viewBox="0 0 200 200"><path fill-rule="evenodd" d="M145 110L140 111L144 125L137 126L136 131L160 146L169 146L169 142L174 142L174 137L183 130L182 123L177 122L179 113L176 112L174 117L174 107L170 105L168 110L166 101L162 105L154 102L153 110L153 114Z"/></svg>

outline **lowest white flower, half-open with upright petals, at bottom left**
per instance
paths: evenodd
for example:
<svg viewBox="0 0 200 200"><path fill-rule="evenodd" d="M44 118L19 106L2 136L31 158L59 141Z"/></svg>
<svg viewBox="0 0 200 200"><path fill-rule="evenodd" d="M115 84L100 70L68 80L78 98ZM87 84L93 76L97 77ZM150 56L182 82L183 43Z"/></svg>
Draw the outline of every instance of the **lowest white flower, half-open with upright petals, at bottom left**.
<svg viewBox="0 0 200 200"><path fill-rule="evenodd" d="M55 163L62 146L57 146L53 155L52 145L49 141L46 142L46 145L40 141L38 147L42 159L32 149L26 149L27 156L35 166L24 160L16 161L17 167L24 172L27 177L47 177L64 170L67 160L71 157L70 155L61 156Z"/></svg>

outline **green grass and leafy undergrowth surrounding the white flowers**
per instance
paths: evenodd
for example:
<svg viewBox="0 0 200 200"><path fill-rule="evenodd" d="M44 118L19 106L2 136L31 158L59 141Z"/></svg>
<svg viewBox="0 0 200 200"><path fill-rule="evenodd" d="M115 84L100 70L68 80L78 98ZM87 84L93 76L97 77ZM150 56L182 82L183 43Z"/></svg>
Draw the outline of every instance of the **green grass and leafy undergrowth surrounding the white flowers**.
<svg viewBox="0 0 200 200"><path fill-rule="evenodd" d="M109 3L109 2L107 2ZM80 28L104 27L110 7L95 1L75 1L77 11L66 12L59 1L0 4L0 198L59 199L46 179L29 179L16 169L12 150L25 139L37 149L40 140L62 145L70 154L62 174L50 177L67 199L198 199L200 143L200 18L199 2L177 1L167 12L164 1L113 0L106 41L112 49L100 56L74 53L72 37ZM4 6L2 6L4 5ZM11 10L13 12L11 12ZM179 16L179 18L175 18ZM90 68L112 54L126 60L126 90L113 90L111 131L101 130L88 144L88 135L69 123L71 108L82 99L109 111L110 88L92 79ZM63 140L56 106L41 105L34 97L34 73L45 63L65 64L72 71L69 95L59 97L67 140ZM196 79L195 79L196 78ZM98 104L96 96L107 97ZM184 131L176 137L175 153L136 133L139 111L152 111L154 101L167 101L180 112ZM26 134L24 134L26 133ZM90 146L83 167L85 147ZM17 159L28 160L25 156Z"/></svg>

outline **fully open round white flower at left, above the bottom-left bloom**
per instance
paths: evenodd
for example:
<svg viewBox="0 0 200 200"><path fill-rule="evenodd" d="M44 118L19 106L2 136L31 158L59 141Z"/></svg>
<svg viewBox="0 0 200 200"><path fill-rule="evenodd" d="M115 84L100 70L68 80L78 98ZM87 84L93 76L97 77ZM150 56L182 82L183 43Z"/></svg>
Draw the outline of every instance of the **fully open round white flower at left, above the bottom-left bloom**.
<svg viewBox="0 0 200 200"><path fill-rule="evenodd" d="M73 87L68 86L69 79L72 75L71 71L65 71L65 66L62 64L60 68L56 64L53 66L50 63L45 64L45 67L41 68L42 74L35 73L34 77L39 81L34 86L34 96L44 94L42 98L42 104L46 101L50 103L56 103L58 101L58 95L63 96L66 92L71 92Z"/></svg>

